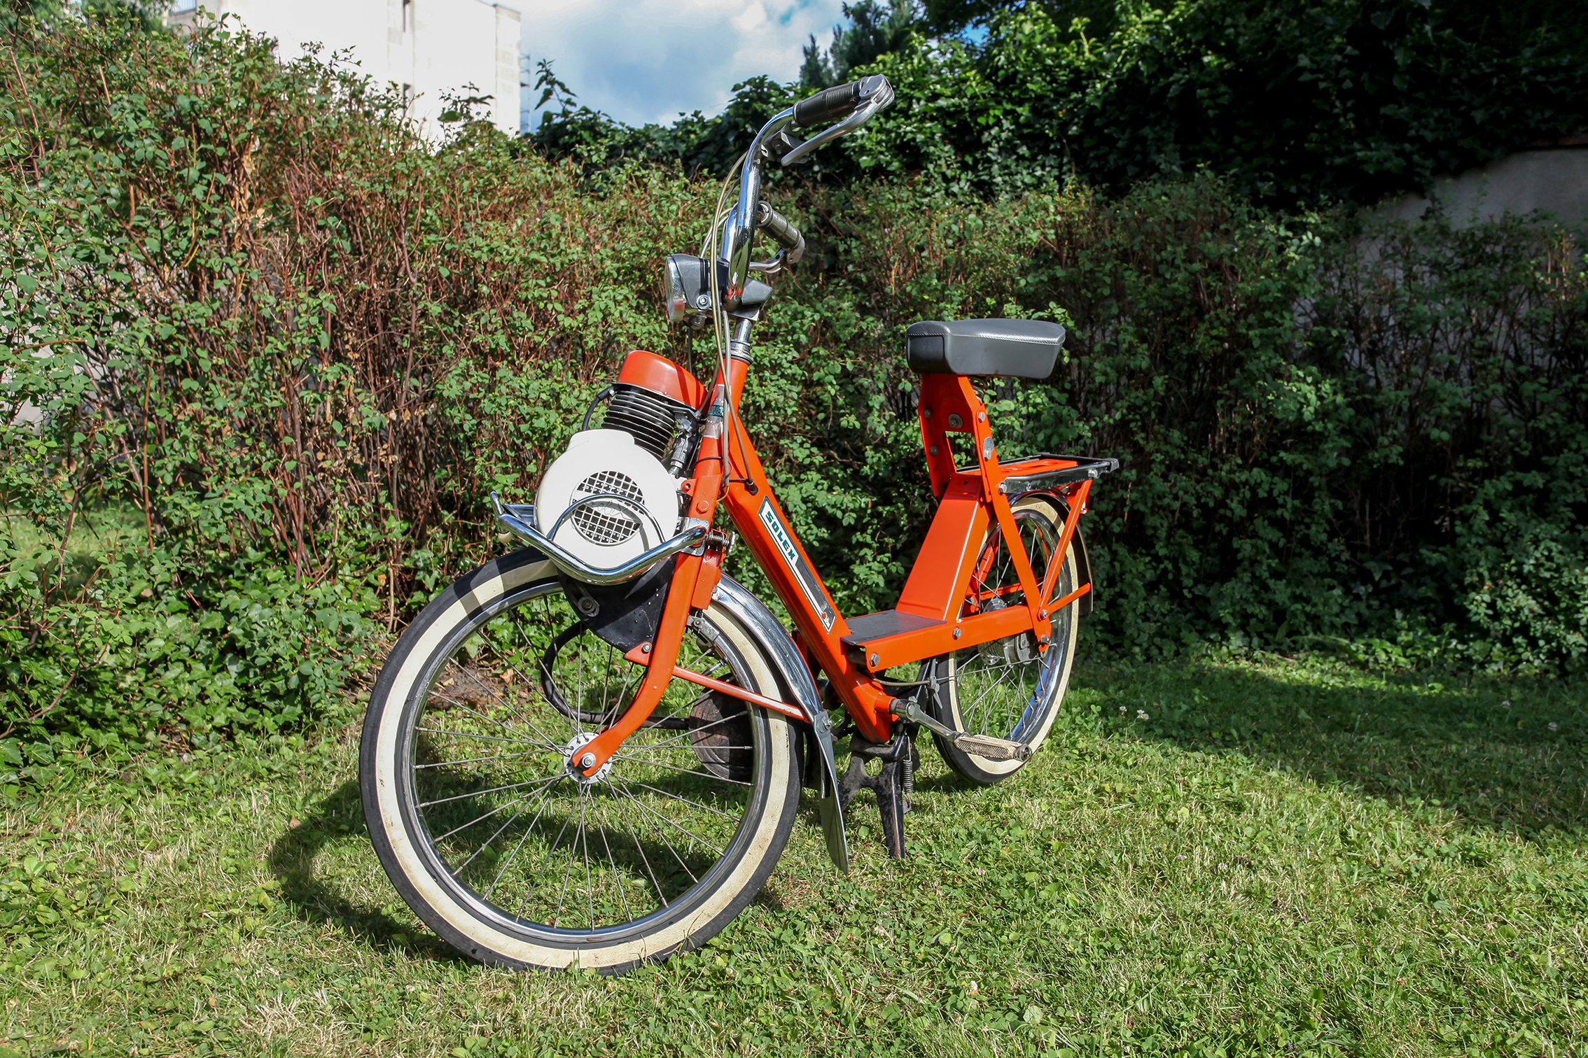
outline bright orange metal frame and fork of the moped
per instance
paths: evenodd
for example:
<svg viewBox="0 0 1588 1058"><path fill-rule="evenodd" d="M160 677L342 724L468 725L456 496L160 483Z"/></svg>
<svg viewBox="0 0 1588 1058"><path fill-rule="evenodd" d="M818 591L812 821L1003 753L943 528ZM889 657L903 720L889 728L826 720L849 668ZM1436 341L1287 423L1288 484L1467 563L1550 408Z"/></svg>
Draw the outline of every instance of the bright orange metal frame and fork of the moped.
<svg viewBox="0 0 1588 1058"><path fill-rule="evenodd" d="M1035 631L1039 650L1048 649L1051 620L1040 600L1053 590L1062 563L1051 563L1043 584L1037 584L1015 528L1008 496L999 485L1012 474L1040 474L1075 466L1073 460L1032 458L1000 465L986 406L972 389L970 379L956 374L923 376L921 439L926 447L932 495L939 496L940 503L896 609L923 619L924 627L870 639L862 652L856 652L853 644L843 642L850 634L848 622L834 604L778 504L743 420L737 412L726 414L729 401L738 408L748 370L745 360L732 358L727 379L719 373L713 382L694 477L684 482L684 493L691 496L686 525L710 527L716 509L727 508L727 516L745 546L765 569L773 590L794 619L802 654L807 661L826 673L862 738L872 742L886 742L892 738L894 698L877 679L888 668L1021 631ZM954 466L948 444L951 433L969 436L977 454L973 465ZM1089 492L1091 481L1062 489L1069 501L1069 516L1056 554L1066 554ZM1026 606L962 615L961 608L977 574L975 565L989 522L997 522L1008 544ZM719 535L708 536L699 554L684 552L678 557L656 641L627 654L630 661L646 665L646 677L624 715L584 746L584 752L594 755L594 763L583 768L584 774L596 774L622 741L645 723L669 680L681 677L707 687L716 685L716 680L707 682L707 677L678 668L676 660L689 611L703 609L711 601L711 590L721 577L724 541L726 538ZM950 557L954 560L948 562ZM1051 609L1059 611L1089 590L1091 584L1083 584L1062 600L1054 600ZM791 712L783 703L740 688L721 685L718 690ZM588 760L591 758L583 757L581 763Z"/></svg>

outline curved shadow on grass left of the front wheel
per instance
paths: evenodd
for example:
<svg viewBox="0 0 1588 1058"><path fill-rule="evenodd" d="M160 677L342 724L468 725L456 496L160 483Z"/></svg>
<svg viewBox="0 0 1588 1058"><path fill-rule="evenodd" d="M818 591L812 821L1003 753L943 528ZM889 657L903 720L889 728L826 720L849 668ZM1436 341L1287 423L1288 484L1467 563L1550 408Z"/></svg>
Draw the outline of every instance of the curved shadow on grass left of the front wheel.
<svg viewBox="0 0 1588 1058"><path fill-rule="evenodd" d="M314 857L321 850L349 841L368 844L364 803L354 779L314 803L297 826L270 845L270 874L281 882L281 898L297 907L299 917L340 926L376 950L410 958L467 961L429 930L413 931L383 909L349 899L333 884L314 874ZM400 899L395 891L392 899Z"/></svg>

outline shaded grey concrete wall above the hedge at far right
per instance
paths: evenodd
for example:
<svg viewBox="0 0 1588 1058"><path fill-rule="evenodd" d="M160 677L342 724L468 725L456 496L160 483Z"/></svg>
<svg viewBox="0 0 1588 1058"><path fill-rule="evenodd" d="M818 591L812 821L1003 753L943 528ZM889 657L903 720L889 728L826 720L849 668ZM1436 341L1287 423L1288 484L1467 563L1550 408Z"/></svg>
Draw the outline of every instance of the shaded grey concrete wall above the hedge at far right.
<svg viewBox="0 0 1588 1058"><path fill-rule="evenodd" d="M1518 151L1459 176L1437 181L1434 198L1456 224L1490 220L1507 213L1545 209L1567 224L1588 222L1588 138L1559 146ZM1415 220L1432 203L1404 195L1382 203L1380 217Z"/></svg>

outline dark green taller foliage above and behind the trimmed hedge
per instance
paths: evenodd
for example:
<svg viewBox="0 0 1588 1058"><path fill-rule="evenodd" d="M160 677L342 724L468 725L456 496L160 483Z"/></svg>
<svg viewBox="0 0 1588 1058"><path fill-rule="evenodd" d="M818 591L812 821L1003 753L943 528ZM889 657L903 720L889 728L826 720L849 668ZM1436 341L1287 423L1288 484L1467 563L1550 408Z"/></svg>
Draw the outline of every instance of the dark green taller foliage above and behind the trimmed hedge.
<svg viewBox="0 0 1588 1058"><path fill-rule="evenodd" d="M1588 49L1571 24L1491 33L1461 5L1429 0L1070 5L1112 8L1099 30L1054 24L1064 5L983 6L997 10L980 44L916 33L850 71L888 75L899 102L811 171L923 173L980 197L1077 176L1118 194L1207 171L1294 209L1428 190L1588 127ZM543 84L557 95L561 84ZM629 128L562 95L535 141L592 167L678 160L723 174L794 98L757 78L719 116Z"/></svg>

